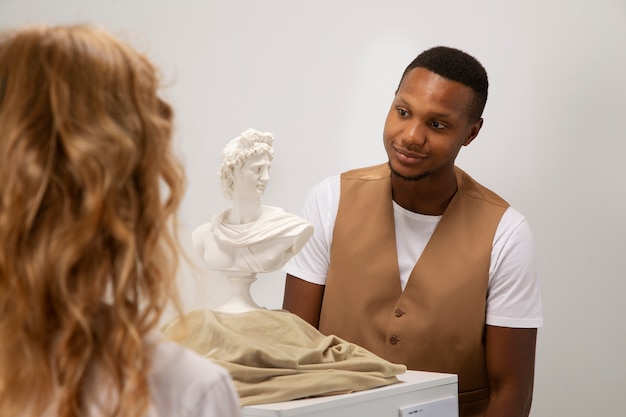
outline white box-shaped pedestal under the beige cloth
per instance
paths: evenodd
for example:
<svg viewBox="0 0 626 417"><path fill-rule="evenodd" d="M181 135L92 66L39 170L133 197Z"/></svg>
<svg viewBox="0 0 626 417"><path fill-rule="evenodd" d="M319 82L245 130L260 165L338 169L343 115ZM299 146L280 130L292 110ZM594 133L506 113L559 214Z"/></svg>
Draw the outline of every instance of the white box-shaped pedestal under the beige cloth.
<svg viewBox="0 0 626 417"><path fill-rule="evenodd" d="M400 409L438 400L458 403L454 374L407 371L398 384L328 397L305 398L242 408L243 417L398 417ZM449 407L447 407L449 409ZM428 417L457 417L458 408Z"/></svg>

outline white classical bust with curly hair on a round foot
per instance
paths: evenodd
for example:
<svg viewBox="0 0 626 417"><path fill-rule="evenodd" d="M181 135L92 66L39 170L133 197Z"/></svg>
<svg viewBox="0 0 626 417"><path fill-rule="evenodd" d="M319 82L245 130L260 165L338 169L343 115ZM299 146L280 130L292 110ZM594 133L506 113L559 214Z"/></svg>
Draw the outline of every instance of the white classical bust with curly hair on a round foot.
<svg viewBox="0 0 626 417"><path fill-rule="evenodd" d="M257 273L282 268L313 234L313 226L299 216L261 203L269 181L273 140L271 133L248 129L228 142L218 175L232 207L192 233L206 267L226 273L233 285L233 279L249 282ZM241 288L238 291L245 293ZM240 295L251 301L249 295ZM239 300L237 307L230 309L240 312L256 308L256 304Z"/></svg>

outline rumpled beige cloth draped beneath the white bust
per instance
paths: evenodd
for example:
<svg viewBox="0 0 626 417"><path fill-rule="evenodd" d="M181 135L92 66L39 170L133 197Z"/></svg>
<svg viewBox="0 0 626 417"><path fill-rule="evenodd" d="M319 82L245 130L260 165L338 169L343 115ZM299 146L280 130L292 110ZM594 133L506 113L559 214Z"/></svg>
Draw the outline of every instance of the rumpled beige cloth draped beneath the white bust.
<svg viewBox="0 0 626 417"><path fill-rule="evenodd" d="M287 311L196 310L163 331L228 369L242 405L371 389L398 382L406 371Z"/></svg>

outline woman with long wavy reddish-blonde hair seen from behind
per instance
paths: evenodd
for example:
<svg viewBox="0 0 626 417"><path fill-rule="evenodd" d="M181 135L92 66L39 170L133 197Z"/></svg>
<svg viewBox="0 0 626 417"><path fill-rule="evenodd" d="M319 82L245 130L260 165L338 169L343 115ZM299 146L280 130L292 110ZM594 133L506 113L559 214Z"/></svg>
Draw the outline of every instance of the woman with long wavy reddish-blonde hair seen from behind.
<svg viewBox="0 0 626 417"><path fill-rule="evenodd" d="M142 55L88 26L0 38L0 415L237 416L155 329L184 176Z"/></svg>

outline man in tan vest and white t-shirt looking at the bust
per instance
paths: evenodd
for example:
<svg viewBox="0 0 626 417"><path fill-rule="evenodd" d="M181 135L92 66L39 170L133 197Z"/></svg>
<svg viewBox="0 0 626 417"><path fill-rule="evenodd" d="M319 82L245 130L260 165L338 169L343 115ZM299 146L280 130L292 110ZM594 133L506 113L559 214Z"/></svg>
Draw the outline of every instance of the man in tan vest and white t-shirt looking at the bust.
<svg viewBox="0 0 626 417"><path fill-rule="evenodd" d="M455 167L488 80L457 49L406 68L385 122L388 164L331 177L285 267L284 308L409 369L459 375L460 416L528 416L543 324L524 217Z"/></svg>

